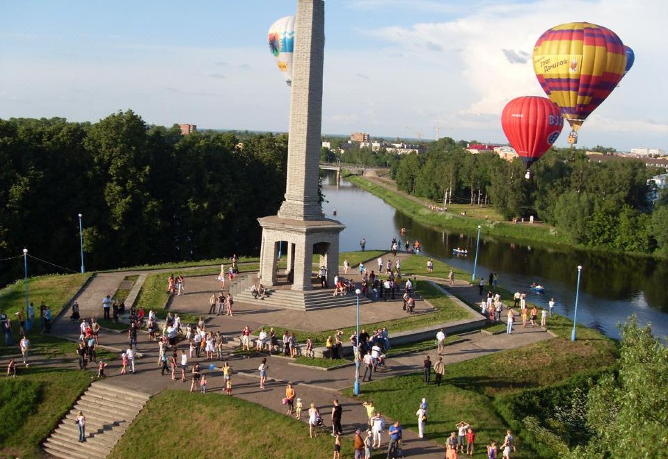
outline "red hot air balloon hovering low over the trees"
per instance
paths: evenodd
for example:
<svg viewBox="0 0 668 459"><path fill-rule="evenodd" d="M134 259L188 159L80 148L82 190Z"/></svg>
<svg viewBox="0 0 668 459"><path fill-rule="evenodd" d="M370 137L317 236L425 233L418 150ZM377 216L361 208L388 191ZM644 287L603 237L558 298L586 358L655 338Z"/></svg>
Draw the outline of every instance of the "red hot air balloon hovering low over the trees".
<svg viewBox="0 0 668 459"><path fill-rule="evenodd" d="M503 109L501 126L510 145L529 168L548 151L564 127L564 118L546 97L525 96L512 99Z"/></svg>

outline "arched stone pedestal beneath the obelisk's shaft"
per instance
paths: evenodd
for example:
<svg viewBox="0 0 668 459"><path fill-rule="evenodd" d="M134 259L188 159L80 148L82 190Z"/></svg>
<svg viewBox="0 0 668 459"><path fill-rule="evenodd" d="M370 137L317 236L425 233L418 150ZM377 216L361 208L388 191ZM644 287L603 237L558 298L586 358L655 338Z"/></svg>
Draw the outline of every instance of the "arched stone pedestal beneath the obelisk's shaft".
<svg viewBox="0 0 668 459"><path fill-rule="evenodd" d="M319 266L327 268L327 283L333 288L339 271L339 233L344 225L322 220L293 220L279 216L258 218L262 226L260 281L265 287L278 279L278 244L287 242L286 273L292 271L292 290L312 289L313 255L320 255ZM318 268L319 268L318 266Z"/></svg>

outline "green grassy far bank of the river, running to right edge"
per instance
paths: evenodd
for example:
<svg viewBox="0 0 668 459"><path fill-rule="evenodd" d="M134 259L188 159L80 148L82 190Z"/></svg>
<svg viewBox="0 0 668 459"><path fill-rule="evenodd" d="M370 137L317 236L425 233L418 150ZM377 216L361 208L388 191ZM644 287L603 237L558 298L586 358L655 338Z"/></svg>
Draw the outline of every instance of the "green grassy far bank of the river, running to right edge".
<svg viewBox="0 0 668 459"><path fill-rule="evenodd" d="M344 175L349 182L363 188L365 191L381 198L397 211L410 216L422 225L430 225L439 230L456 230L475 235L477 227L480 225L481 235L493 239L502 239L508 242L526 243L526 244L544 244L548 246L561 246L562 248L574 248L586 250L587 252L612 253L633 255L634 257L644 257L650 259L665 259L658 255L652 255L642 252L620 252L619 250L610 250L605 248L596 248L588 245L572 243L566 234L559 232L557 228L543 223L511 223L500 220L486 220L484 218L475 218L475 216L460 216L452 212L434 211L429 208L432 204L429 200L409 195L400 191L394 186L394 182L387 179L369 179L359 175ZM477 207L472 206L472 209Z"/></svg>

